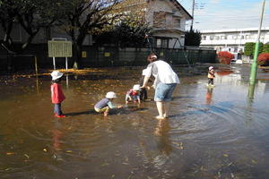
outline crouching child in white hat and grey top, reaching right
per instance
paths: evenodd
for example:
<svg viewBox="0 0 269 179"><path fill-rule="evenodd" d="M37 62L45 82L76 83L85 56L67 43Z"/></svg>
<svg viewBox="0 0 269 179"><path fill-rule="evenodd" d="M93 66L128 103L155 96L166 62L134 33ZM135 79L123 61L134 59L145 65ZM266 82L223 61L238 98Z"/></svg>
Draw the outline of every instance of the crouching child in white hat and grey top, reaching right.
<svg viewBox="0 0 269 179"><path fill-rule="evenodd" d="M121 106L115 107L112 104L114 98L117 98L115 92L110 91L107 93L106 98L102 98L95 106L94 110L98 113L104 113L104 116L108 116L108 112L112 108L120 108Z"/></svg>

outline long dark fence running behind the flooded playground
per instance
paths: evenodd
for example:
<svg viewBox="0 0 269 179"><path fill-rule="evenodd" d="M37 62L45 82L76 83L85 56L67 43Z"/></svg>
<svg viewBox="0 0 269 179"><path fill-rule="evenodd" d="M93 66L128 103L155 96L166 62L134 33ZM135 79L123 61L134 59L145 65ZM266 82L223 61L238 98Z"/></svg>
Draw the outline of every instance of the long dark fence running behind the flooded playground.
<svg viewBox="0 0 269 179"><path fill-rule="evenodd" d="M118 48L118 47L82 47L83 67L104 67L104 66L140 66L147 64L146 57L151 52L150 48ZM171 64L215 63L216 51L212 49L187 48L171 49L157 48L155 52L161 59ZM24 55L24 56L23 56ZM13 56L13 67L16 70L34 70L34 60L25 55L36 55L39 68L53 68L52 58L48 57L48 45L31 45L23 55ZM187 56L187 59L186 59ZM7 70L11 56L4 55L0 48L0 69ZM74 60L68 58L68 66L72 66ZM65 68L65 58L56 58L56 68Z"/></svg>

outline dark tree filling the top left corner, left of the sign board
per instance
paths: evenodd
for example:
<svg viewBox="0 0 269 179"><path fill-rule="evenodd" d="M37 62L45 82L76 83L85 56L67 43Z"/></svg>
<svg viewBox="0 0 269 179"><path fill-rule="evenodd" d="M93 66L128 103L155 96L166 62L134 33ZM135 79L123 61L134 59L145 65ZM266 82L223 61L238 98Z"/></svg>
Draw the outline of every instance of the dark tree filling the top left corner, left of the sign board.
<svg viewBox="0 0 269 179"><path fill-rule="evenodd" d="M57 4L55 0L0 0L0 28L4 38L0 44L9 54L20 54L26 49L41 27L48 27L55 21ZM27 35L18 46L13 42L14 25L20 25Z"/></svg>

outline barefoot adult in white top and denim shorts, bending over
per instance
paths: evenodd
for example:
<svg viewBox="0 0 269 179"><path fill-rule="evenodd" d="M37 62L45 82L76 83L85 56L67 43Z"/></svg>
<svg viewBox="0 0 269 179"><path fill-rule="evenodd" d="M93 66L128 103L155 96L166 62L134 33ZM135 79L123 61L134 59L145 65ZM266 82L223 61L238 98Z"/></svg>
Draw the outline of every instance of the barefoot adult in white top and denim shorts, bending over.
<svg viewBox="0 0 269 179"><path fill-rule="evenodd" d="M155 78L153 84L155 89L154 101L156 101L159 113L156 118L165 119L169 116L169 102L172 99L172 93L180 81L171 66L162 60L158 60L157 55L154 53L148 56L148 61L150 64L147 66L141 88L146 87L147 82L153 75Z"/></svg>

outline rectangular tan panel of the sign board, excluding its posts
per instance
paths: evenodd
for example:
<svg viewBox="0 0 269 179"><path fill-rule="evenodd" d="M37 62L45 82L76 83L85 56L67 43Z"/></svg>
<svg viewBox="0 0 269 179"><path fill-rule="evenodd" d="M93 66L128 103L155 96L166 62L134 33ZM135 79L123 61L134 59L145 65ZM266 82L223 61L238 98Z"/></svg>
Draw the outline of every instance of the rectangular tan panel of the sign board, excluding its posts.
<svg viewBox="0 0 269 179"><path fill-rule="evenodd" d="M48 40L48 57L72 57L72 42Z"/></svg>

